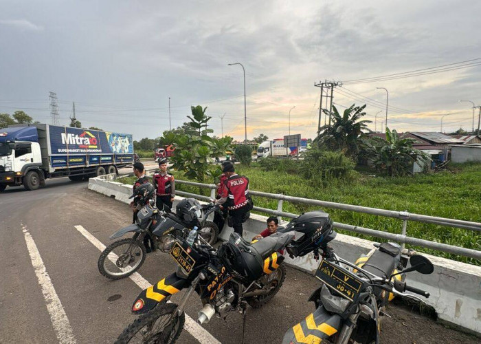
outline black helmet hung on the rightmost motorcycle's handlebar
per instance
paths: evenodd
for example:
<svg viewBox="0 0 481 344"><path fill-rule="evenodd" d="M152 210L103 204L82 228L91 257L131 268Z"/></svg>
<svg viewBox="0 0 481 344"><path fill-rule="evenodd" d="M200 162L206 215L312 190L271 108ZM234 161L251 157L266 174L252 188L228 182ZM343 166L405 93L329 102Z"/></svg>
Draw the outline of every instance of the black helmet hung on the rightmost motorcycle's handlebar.
<svg viewBox="0 0 481 344"><path fill-rule="evenodd" d="M287 251L295 257L302 257L312 252L336 236L333 230L333 220L324 211L302 213L281 231L287 233L292 230L302 234L299 239L291 241L291 244L287 246Z"/></svg>

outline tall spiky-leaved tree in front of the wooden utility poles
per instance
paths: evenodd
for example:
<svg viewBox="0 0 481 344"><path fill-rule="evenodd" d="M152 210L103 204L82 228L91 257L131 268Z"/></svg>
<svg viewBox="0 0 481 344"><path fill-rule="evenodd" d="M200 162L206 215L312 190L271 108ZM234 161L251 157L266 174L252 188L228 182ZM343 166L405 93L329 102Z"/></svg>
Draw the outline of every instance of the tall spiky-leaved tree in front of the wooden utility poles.
<svg viewBox="0 0 481 344"><path fill-rule="evenodd" d="M351 158L355 158L359 153L359 144L366 134L363 130L369 131L367 123L370 120L360 120L366 112L363 110L366 105L356 107L354 104L344 110L342 116L333 106L331 114L331 125L324 125L320 128L321 133L315 141L320 147L326 147L331 151L342 151ZM325 114L329 114L324 109Z"/></svg>

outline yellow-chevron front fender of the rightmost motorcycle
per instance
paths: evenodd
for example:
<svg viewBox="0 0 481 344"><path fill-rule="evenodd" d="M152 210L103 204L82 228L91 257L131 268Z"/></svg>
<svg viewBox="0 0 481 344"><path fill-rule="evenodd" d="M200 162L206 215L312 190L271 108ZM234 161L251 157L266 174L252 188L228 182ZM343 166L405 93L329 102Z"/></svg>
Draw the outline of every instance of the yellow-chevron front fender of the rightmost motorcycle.
<svg viewBox="0 0 481 344"><path fill-rule="evenodd" d="M341 326L341 316L339 314L329 314L321 305L313 313L306 316L306 319L291 327L284 334L282 344L319 344L323 339L327 339L337 333Z"/></svg>

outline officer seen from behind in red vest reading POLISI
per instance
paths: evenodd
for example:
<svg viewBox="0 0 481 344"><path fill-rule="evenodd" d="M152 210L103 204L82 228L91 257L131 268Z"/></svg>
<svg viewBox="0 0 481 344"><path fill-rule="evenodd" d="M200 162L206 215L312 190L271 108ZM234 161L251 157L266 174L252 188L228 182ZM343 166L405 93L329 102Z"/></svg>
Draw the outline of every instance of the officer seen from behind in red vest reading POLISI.
<svg viewBox="0 0 481 344"><path fill-rule="evenodd" d="M227 206L232 218L234 232L242 236L243 217L252 208L249 197L249 179L243 175L238 175L233 164L225 164L222 171L227 176L227 180L224 182L225 188L222 191L221 198L216 200L216 203Z"/></svg>

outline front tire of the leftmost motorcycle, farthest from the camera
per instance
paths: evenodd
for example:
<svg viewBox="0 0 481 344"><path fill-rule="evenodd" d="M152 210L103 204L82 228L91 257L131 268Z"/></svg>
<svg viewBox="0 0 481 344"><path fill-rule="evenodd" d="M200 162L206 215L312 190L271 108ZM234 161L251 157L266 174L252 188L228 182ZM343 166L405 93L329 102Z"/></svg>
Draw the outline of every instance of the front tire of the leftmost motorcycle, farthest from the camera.
<svg viewBox="0 0 481 344"><path fill-rule="evenodd" d="M129 256L131 256L130 258L128 258L128 256L125 253L124 253L124 255L126 255L125 257L123 257L123 255L119 257L119 255L116 252L113 252L113 254L117 255L117 260L114 263L107 256L109 255L109 253L115 250L115 248L118 248L119 246L122 246L122 245L134 246L134 248L137 248L137 250L134 253L134 255L131 255L130 253L128 254ZM132 275L135 271L139 270L142 264L144 264L146 254L147 252L146 252L145 246L143 244L139 245L137 240L131 239L131 238L121 239L113 242L112 244L107 246L105 250L102 251L102 254L98 258L98 264L97 264L98 270L103 276L107 277L108 279L123 279L125 277ZM124 259L128 258L129 259L128 264L130 264L132 262L132 259L135 259L137 257L139 257L139 259L137 260L136 264L130 270L127 270L125 272L117 272L118 270L120 270L120 268L115 268L115 270L117 271L110 271L109 268L106 268L106 264L109 264L112 267L118 264L120 258L124 258Z"/></svg>

